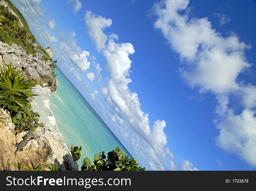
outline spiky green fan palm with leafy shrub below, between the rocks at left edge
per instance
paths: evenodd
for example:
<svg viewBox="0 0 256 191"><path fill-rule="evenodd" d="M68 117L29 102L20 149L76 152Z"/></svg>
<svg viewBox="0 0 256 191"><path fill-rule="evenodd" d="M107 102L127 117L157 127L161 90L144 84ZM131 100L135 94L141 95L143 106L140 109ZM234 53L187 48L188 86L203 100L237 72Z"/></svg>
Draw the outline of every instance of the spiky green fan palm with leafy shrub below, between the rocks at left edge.
<svg viewBox="0 0 256 191"><path fill-rule="evenodd" d="M0 67L0 106L10 112L16 133L27 130L33 133L41 125L38 124L40 114L33 112L30 104L31 99L37 96L33 88L39 82L24 81L24 77L22 72L12 67L12 63Z"/></svg>

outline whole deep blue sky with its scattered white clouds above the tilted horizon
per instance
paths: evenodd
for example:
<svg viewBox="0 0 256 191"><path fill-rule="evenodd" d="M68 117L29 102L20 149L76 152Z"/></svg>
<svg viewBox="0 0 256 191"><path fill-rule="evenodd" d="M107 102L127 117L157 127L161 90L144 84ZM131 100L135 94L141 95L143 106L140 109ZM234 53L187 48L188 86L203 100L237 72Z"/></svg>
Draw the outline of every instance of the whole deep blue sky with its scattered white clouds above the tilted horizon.
<svg viewBox="0 0 256 191"><path fill-rule="evenodd" d="M11 1L147 170L255 170L255 1Z"/></svg>

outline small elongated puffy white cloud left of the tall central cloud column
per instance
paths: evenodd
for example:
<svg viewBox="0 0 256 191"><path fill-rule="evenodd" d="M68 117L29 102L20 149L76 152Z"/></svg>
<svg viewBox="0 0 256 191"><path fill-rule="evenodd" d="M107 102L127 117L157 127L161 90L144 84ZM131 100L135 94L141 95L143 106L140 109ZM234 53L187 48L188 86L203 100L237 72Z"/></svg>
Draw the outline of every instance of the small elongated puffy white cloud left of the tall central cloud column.
<svg viewBox="0 0 256 191"><path fill-rule="evenodd" d="M84 72L89 69L90 62L87 57L89 57L90 53L88 51L83 50L81 54L77 54L65 42L60 43L59 48L63 52L63 55L68 57L78 69Z"/></svg>

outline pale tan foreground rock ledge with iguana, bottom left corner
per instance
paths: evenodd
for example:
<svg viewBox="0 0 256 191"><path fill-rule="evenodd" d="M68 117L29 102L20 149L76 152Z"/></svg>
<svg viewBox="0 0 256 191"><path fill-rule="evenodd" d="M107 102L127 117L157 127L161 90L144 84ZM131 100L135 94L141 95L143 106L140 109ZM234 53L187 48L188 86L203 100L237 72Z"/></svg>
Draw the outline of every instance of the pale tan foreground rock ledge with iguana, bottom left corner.
<svg viewBox="0 0 256 191"><path fill-rule="evenodd" d="M11 163L35 168L38 161L56 163L58 170L78 170L61 133L43 124L36 131L15 136L10 114L0 109L0 170L22 170Z"/></svg>

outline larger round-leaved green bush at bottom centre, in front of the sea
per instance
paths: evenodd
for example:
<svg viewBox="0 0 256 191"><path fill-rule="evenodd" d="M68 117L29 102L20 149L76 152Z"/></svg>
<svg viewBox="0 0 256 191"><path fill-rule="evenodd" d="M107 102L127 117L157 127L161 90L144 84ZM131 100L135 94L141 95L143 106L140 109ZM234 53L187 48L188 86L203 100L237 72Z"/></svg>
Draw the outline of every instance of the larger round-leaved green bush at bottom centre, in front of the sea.
<svg viewBox="0 0 256 191"><path fill-rule="evenodd" d="M138 165L138 160L129 159L128 156L124 155L125 152L121 151L119 147L115 148L108 152L108 159L106 159L106 155L103 152L94 155L94 160L92 162L87 157L83 160L83 165L81 166L81 170L113 170L113 171L144 171L144 168L140 169L140 165Z"/></svg>

